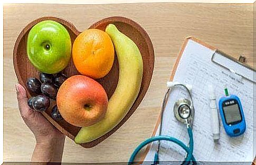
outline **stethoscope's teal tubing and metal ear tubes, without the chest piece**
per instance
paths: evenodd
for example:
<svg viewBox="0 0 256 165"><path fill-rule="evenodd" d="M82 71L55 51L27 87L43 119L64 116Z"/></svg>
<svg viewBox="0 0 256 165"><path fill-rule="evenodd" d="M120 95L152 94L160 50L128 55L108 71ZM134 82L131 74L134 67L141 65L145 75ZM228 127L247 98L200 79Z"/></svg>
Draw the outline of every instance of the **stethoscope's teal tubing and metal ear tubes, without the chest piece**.
<svg viewBox="0 0 256 165"><path fill-rule="evenodd" d="M189 93L189 96L191 97L191 101L192 101L191 92L188 90L188 88L185 85L177 84L176 86L183 86L187 90L187 92ZM180 141L180 140L178 140L178 139L176 139L174 137L169 137L169 136L166 136L166 135L161 135L161 132L162 132L162 122L163 122L163 113L164 113L164 108L165 108L166 100L168 98L169 91L170 91L170 89L168 88L168 90L167 90L167 92L165 94L165 97L164 97L163 105L162 105L161 123L160 123L161 127L160 127L160 130L159 130L160 131L159 135L156 136L156 137L151 137L151 138L145 140L144 142L140 143L138 145L138 147L134 150L134 152L132 152L131 157L130 157L129 162L128 162L128 165L131 165L134 162L136 155L138 154L138 152L143 147L145 147L145 145L147 145L147 144L149 144L151 142L154 142L154 141L159 141L160 142L161 140L166 140L166 141L174 142L177 145L179 145L180 147L182 147L187 152L187 156L186 156L186 158L185 158L185 160L183 161L182 164L189 164L191 162L193 164L196 164L196 160L195 160L195 158L193 156L193 150L194 150L193 132L192 132L192 128L189 125L187 125L187 132L188 132L188 136L189 136L189 145L188 146L186 146L186 144L184 144L182 141ZM193 104L193 101L192 101L192 104ZM157 164L157 162L158 162L159 144L158 144L158 150L155 153L154 164Z"/></svg>

